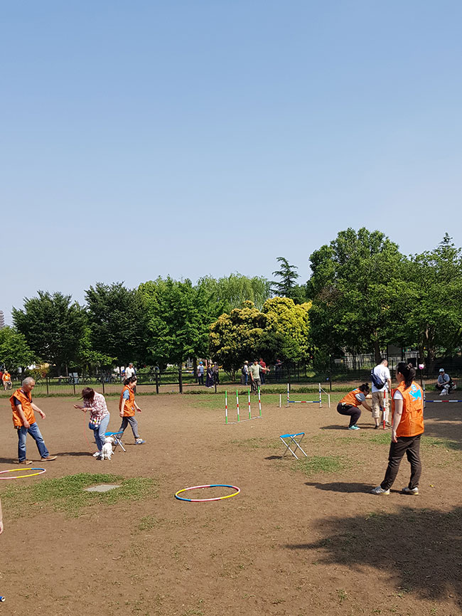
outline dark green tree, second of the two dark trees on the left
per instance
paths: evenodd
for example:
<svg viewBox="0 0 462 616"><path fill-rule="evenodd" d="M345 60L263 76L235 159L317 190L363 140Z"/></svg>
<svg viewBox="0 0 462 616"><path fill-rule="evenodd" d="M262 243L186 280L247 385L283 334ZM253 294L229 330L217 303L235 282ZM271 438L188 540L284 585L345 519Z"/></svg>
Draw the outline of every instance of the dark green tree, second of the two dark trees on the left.
<svg viewBox="0 0 462 616"><path fill-rule="evenodd" d="M85 291L90 325L90 347L115 358L118 366L146 357L146 307L137 290L122 282L98 282Z"/></svg>

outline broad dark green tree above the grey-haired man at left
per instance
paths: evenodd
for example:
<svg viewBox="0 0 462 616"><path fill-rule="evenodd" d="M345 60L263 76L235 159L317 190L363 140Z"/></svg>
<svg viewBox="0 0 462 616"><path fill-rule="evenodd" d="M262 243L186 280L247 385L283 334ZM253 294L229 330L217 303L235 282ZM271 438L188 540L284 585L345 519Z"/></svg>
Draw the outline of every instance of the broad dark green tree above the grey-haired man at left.
<svg viewBox="0 0 462 616"><path fill-rule="evenodd" d="M24 299L23 310L13 309L13 320L36 356L68 373L86 323L85 310L70 295L38 291L38 297Z"/></svg>

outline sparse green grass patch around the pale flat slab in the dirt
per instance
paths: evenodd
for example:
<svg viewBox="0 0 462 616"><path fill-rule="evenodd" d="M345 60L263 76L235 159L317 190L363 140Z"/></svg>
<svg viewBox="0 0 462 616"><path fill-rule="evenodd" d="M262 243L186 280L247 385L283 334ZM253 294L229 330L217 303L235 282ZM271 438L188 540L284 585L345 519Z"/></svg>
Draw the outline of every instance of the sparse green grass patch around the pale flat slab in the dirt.
<svg viewBox="0 0 462 616"><path fill-rule="evenodd" d="M85 492L95 484L119 484L109 492ZM78 517L87 507L95 504L112 505L119 501L133 501L156 497L153 479L134 477L124 479L119 475L79 473L60 479L43 479L32 486L10 487L2 494L12 517L35 514L38 509L51 507L68 516Z"/></svg>

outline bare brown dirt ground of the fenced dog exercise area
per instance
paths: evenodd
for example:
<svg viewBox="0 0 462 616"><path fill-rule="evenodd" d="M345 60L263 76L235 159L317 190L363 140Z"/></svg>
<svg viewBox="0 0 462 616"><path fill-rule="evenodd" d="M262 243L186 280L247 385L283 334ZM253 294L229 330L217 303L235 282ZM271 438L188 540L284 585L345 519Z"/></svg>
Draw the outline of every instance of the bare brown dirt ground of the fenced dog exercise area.
<svg viewBox="0 0 462 616"><path fill-rule="evenodd" d="M223 409L211 408L221 396L203 398L140 396L146 445L132 445L127 433L127 452L110 462L90 455L84 432L91 432L72 398L36 400L58 460L39 477L0 482L0 495L12 483L77 472L152 477L157 494L91 506L77 518L37 504L12 519L4 504L0 616L461 613L462 405L427 406L421 494L399 494L409 477L403 460L392 494L373 496L388 447L368 413L362 430L348 432L335 405L279 409L274 396L264 399L261 419L225 425ZM117 429L117 400L108 405L110 428ZM0 422L6 470L16 457L6 400ZM281 458L279 435L300 431L308 456L335 460L341 469L321 464L304 472L294 458ZM38 461L30 437L28 456ZM207 503L174 498L183 487L214 483L241 493Z"/></svg>

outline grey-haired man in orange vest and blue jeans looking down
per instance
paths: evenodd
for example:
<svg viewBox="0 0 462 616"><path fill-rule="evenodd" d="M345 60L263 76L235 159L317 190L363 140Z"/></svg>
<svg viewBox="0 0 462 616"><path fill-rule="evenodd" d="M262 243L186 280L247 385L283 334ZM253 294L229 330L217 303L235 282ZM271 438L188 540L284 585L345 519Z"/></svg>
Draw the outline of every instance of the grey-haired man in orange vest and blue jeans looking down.
<svg viewBox="0 0 462 616"><path fill-rule="evenodd" d="M21 388L16 389L10 398L11 410L13 411L13 425L15 430L18 430L18 464L32 464L32 460L26 460L26 438L28 433L36 442L42 462L56 460L55 455L50 456L36 423L35 413L38 413L42 419L45 419L46 415L32 401L31 391L35 385L36 381L31 376L26 377Z"/></svg>

